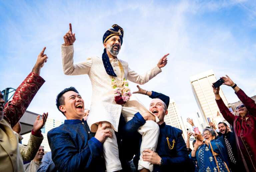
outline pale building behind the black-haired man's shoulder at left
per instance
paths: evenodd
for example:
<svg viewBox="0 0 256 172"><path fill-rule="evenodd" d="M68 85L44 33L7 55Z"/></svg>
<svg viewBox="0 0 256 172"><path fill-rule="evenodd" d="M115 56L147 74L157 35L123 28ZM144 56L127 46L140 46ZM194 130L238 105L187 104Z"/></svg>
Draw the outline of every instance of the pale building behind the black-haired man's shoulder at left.
<svg viewBox="0 0 256 172"><path fill-rule="evenodd" d="M60 126L61 124L63 124L63 122L61 122L60 120L56 120L49 117L47 118L47 121L45 122L45 126L44 128L42 128L42 134L44 136L44 139L43 139L43 142L41 143L41 146L44 146L44 151L46 152L51 151L48 143L48 139L47 139L48 131L50 131L52 128ZM30 133L24 134L22 135L22 137L23 137L22 144L27 144L30 137Z"/></svg>

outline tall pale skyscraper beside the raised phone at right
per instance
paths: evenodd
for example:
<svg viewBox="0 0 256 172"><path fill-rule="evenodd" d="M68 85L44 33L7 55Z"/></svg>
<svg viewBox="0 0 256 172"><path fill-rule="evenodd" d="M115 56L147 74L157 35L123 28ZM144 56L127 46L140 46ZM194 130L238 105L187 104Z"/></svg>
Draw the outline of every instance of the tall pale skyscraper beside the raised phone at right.
<svg viewBox="0 0 256 172"><path fill-rule="evenodd" d="M209 117L211 121L213 120L212 122L217 127L219 122L225 122L226 120L222 117L222 115L220 115L221 113L215 101L215 95L212 91L212 83L215 83L216 81L217 79L212 70L190 77L193 94L203 116L204 123L208 124L207 118ZM227 99L224 96L221 88L220 96L227 105Z"/></svg>

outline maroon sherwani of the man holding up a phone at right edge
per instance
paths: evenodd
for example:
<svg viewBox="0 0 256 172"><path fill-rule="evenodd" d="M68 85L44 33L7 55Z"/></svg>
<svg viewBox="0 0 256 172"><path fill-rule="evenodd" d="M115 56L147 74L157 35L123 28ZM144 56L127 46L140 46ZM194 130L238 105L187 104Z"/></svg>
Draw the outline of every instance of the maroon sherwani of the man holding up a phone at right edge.
<svg viewBox="0 0 256 172"><path fill-rule="evenodd" d="M233 126L239 160L244 162L246 171L256 172L256 104L242 89L236 95L249 111L243 117L234 116L222 99L216 102L223 117Z"/></svg>

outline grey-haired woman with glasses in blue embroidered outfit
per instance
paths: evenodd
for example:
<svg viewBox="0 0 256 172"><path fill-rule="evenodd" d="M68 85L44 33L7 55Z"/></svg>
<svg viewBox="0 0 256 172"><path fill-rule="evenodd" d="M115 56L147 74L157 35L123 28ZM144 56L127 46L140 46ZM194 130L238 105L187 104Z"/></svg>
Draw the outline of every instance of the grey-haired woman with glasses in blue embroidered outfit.
<svg viewBox="0 0 256 172"><path fill-rule="evenodd" d="M196 145L189 157L197 160L199 172L230 172L225 148L220 140L215 140L215 131L205 128L203 136L201 133L195 135Z"/></svg>

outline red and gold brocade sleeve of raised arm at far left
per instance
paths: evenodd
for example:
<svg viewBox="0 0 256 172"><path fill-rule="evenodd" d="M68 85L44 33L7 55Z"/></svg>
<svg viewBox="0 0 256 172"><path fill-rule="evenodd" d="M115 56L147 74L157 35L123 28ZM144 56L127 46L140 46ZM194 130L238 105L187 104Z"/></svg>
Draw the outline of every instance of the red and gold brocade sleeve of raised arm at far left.
<svg viewBox="0 0 256 172"><path fill-rule="evenodd" d="M44 84L44 79L38 74L31 72L16 89L12 100L4 106L4 118L13 127L22 117L28 105L36 95L39 88Z"/></svg>

